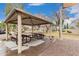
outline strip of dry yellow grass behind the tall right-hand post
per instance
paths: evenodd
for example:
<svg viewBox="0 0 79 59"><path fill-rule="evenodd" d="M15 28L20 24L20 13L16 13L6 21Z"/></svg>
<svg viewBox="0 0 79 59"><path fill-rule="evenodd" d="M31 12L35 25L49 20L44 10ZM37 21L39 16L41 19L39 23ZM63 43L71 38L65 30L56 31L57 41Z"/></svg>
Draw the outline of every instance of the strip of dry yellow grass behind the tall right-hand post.
<svg viewBox="0 0 79 59"><path fill-rule="evenodd" d="M59 38L59 32L57 31L44 33L44 34L46 36L54 36L55 38ZM79 40L79 34L63 32L63 38L71 39L71 40Z"/></svg>

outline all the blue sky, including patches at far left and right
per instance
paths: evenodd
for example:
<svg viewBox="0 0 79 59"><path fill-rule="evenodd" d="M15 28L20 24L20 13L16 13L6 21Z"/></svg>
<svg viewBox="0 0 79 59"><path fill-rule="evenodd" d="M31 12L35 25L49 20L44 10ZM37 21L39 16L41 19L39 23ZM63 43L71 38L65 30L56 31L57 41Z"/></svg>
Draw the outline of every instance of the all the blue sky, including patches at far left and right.
<svg viewBox="0 0 79 59"><path fill-rule="evenodd" d="M24 10L32 14L42 14L45 16L52 17L56 11L59 10L60 3L46 3L46 4L24 4ZM6 4L0 3L0 21L5 19L5 8ZM68 16L74 17L75 14L70 14L70 11L65 12Z"/></svg>

